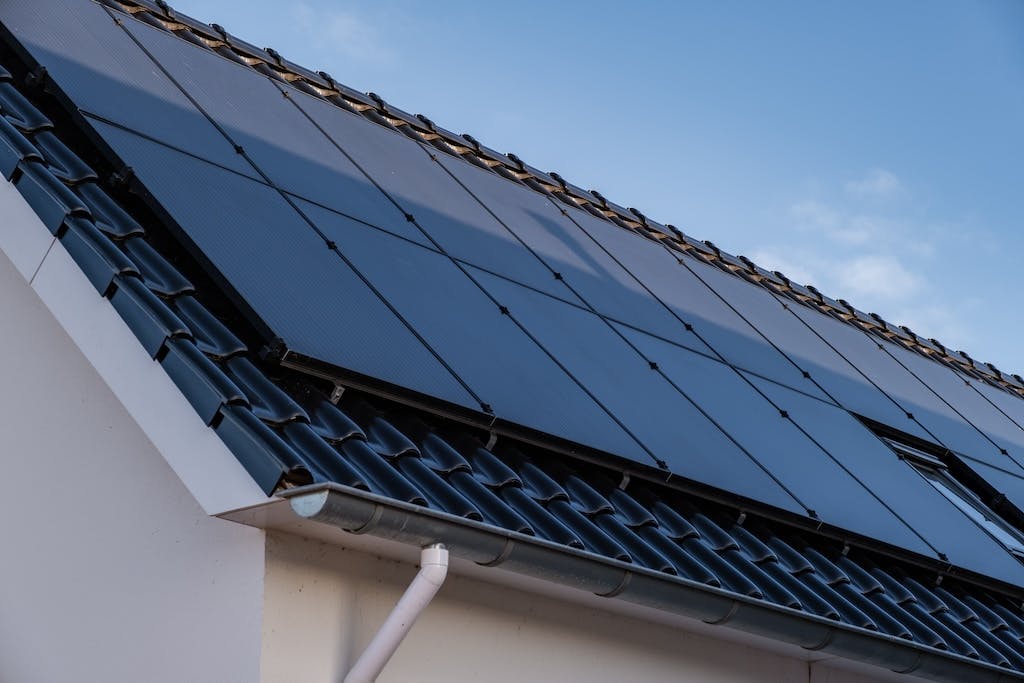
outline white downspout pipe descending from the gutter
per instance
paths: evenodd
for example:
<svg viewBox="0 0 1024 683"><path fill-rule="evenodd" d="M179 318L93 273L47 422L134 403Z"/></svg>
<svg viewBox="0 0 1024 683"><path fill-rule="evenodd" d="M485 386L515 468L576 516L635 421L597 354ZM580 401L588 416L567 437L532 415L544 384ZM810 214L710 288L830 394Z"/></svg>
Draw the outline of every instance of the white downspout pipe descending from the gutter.
<svg viewBox="0 0 1024 683"><path fill-rule="evenodd" d="M435 543L420 552L420 571L345 676L344 683L373 683L398 649L416 618L433 599L447 575L447 549Z"/></svg>

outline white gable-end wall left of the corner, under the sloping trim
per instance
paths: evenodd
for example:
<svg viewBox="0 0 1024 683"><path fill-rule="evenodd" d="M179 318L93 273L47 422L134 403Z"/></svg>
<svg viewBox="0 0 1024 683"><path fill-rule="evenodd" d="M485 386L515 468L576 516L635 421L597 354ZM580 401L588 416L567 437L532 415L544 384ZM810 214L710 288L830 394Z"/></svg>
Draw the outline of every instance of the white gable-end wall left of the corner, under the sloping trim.
<svg viewBox="0 0 1024 683"><path fill-rule="evenodd" d="M259 679L263 531L203 512L2 253L0 464L0 681Z"/></svg>

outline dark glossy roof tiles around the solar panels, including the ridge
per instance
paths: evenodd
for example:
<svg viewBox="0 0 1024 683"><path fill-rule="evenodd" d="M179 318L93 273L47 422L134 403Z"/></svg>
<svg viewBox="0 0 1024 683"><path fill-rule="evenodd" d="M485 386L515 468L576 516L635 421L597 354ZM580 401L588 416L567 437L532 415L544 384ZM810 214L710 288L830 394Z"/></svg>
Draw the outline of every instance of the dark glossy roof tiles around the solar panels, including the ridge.
<svg viewBox="0 0 1024 683"><path fill-rule="evenodd" d="M407 133L415 127L415 135L438 148L476 159L558 201L580 205L584 198L585 208L602 220L641 230L693 257L694 269L711 263L743 287L751 285L736 275L804 305L820 307L825 301L642 216L621 212L556 176L211 32L166 6L112 6L204 47L246 55L238 58L271 78L308 86L317 96L325 90L332 101L360 112L375 125ZM3 11L0 20L7 20ZM1024 672L1024 590L1006 574L953 566L940 553L929 558L912 549L901 551L756 498L658 475L655 468L571 444L559 449L557 441L526 433L496 437L458 415L382 395L374 386L326 381L275 362L262 347L259 331L225 296L223 284L197 262L168 227L168 216L147 201L145 185L114 164L74 106L54 96L67 84L38 71L23 50L5 49L2 56L10 71L0 70L0 172L268 494L333 482L455 521L536 537L834 620L880 638ZM699 272L710 278L711 271ZM846 327L859 324L849 311L840 317ZM871 328L887 330L895 341L919 352L924 348L907 344L905 333L878 323ZM964 366L954 356L928 355L1016 391L1015 380Z"/></svg>

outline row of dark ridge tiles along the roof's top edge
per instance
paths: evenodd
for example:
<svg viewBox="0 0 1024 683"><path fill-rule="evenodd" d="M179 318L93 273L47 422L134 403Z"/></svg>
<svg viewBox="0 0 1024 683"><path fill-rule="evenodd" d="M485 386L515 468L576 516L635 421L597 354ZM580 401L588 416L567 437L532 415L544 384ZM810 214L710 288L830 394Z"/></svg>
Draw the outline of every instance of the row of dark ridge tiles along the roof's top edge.
<svg viewBox="0 0 1024 683"><path fill-rule="evenodd" d="M795 283L778 270L769 271L745 256L734 256L724 252L711 241L696 240L671 223L663 224L654 221L636 208L625 208L609 202L599 191L586 190L573 185L554 171L541 171L524 163L514 154L501 154L482 145L468 133L453 133L435 125L422 114L412 115L391 106L374 92L364 94L348 88L335 81L326 72L314 73L284 58L273 48L256 47L231 36L217 24L206 25L181 14L165 0L99 1L113 9L178 35L190 43L213 50L374 123L428 143L563 204L587 211L622 228L740 276L769 292L793 299L808 308L839 318L954 371L983 380L1019 398L1024 398L1024 378L1018 374L1004 373L990 362L976 361L966 351L953 350L936 339L922 337L906 326L889 323L878 313L864 312L845 299L833 299L812 285Z"/></svg>

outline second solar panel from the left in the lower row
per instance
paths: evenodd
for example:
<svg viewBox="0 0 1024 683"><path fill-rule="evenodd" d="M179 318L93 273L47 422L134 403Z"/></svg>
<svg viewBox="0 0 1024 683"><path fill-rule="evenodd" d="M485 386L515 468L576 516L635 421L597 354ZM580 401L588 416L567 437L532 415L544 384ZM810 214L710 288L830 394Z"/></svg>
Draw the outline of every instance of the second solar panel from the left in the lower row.
<svg viewBox="0 0 1024 683"><path fill-rule="evenodd" d="M496 416L653 464L447 256L305 202L300 209ZM335 294L307 296L326 303ZM346 365L337 351L317 357Z"/></svg>

